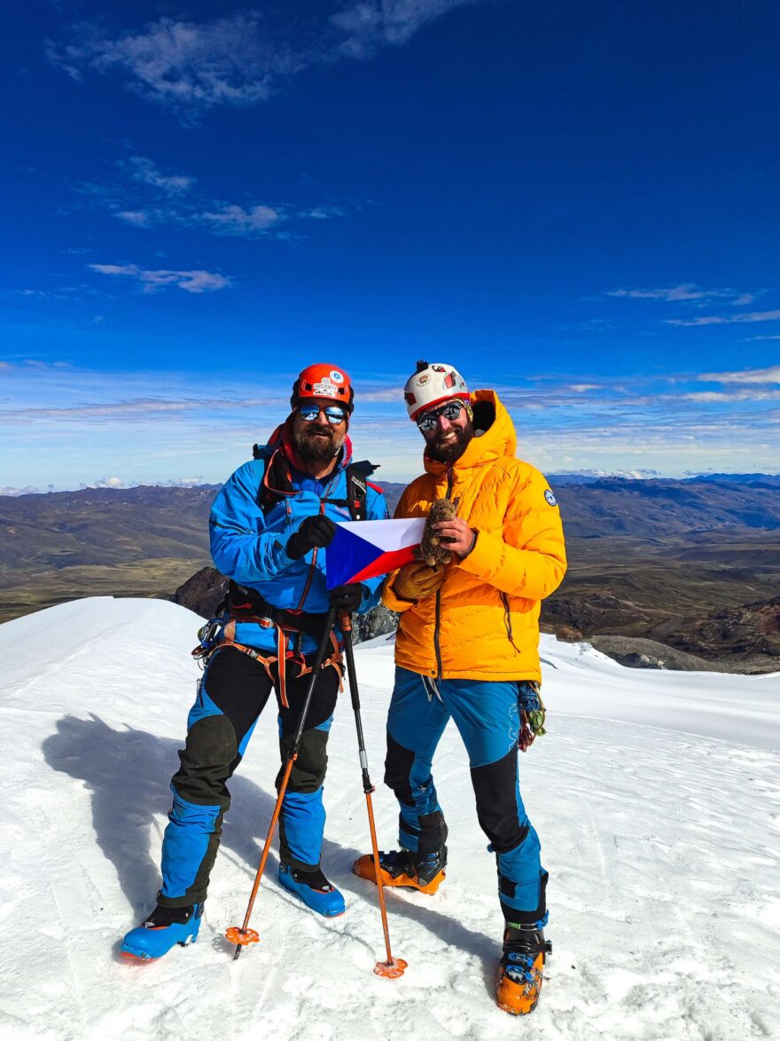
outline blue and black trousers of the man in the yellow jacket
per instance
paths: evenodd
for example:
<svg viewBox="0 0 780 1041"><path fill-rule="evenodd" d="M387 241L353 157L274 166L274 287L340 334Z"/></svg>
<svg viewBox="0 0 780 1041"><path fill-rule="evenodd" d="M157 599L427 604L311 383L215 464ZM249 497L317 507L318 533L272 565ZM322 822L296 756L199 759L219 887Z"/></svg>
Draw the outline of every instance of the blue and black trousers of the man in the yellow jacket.
<svg viewBox="0 0 780 1041"><path fill-rule="evenodd" d="M452 718L468 752L479 824L490 840L488 848L496 854L504 916L534 922L546 911L547 872L520 795L521 683L433 681L396 667L387 719L385 784L400 806L400 845L422 855L437 852L446 827L432 763Z"/></svg>

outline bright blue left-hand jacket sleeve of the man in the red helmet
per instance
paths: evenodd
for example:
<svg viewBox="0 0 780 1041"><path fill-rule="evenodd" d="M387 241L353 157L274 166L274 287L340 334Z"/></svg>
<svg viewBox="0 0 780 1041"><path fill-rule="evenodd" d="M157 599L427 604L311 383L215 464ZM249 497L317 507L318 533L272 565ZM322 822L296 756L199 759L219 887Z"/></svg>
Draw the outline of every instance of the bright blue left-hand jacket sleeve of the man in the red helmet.
<svg viewBox="0 0 780 1041"><path fill-rule="evenodd" d="M241 585L254 586L292 563L285 536L265 530L258 504L262 466L262 461L239 466L214 500L209 517L214 566Z"/></svg>

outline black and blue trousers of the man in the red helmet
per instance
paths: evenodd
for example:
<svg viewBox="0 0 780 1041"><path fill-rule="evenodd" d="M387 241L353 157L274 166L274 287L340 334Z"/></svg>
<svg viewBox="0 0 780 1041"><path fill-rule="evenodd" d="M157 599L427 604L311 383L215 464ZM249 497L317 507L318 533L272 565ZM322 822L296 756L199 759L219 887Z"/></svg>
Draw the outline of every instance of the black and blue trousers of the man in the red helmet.
<svg viewBox="0 0 780 1041"><path fill-rule="evenodd" d="M297 726L311 674L293 679L287 669L286 701L277 690L282 763ZM302 870L319 866L326 812L322 784L328 736L341 684L338 666L322 669L306 719L279 818L280 859ZM278 686L278 685L277 685ZM206 898L219 846L223 817L230 808L227 782L241 761L275 683L265 667L235 648L217 651L199 684L187 719L181 766L171 789L174 802L162 840L164 907L188 907ZM277 777L277 790L283 768Z"/></svg>

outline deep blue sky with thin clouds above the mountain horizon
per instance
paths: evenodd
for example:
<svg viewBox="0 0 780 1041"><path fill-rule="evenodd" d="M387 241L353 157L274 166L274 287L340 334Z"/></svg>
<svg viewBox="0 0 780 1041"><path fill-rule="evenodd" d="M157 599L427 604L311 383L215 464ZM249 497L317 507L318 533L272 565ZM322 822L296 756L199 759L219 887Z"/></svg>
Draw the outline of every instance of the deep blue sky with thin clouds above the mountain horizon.
<svg viewBox="0 0 780 1041"><path fill-rule="evenodd" d="M773 2L30 0L0 76L0 490L216 482L416 358L548 473L780 465Z"/></svg>

